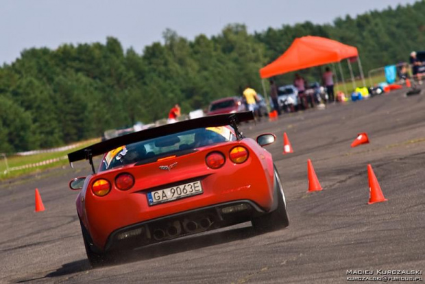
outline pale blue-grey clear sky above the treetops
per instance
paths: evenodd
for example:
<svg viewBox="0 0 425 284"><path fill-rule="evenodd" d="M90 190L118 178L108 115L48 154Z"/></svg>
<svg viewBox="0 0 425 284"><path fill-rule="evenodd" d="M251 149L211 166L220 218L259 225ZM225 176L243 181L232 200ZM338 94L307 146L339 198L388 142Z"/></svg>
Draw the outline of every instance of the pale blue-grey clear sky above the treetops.
<svg viewBox="0 0 425 284"><path fill-rule="evenodd" d="M192 40L213 36L229 23L249 32L304 21L332 23L338 16L406 5L415 0L0 0L0 64L23 49L118 38L138 53L171 28Z"/></svg>

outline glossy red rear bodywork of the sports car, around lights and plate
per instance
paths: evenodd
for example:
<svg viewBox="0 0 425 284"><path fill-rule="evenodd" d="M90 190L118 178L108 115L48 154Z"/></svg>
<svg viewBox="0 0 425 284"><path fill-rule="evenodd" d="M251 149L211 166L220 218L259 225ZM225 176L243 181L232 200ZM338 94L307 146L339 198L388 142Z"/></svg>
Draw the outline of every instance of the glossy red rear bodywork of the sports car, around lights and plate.
<svg viewBox="0 0 425 284"><path fill-rule="evenodd" d="M249 152L245 163L235 164L229 159L230 150L237 145L246 147ZM206 155L213 151L226 156L226 163L219 169L211 169L206 165ZM173 169L159 168L160 165L175 162L178 164ZM114 185L114 178L123 172L130 173L135 178L134 186L127 191L121 191ZM112 185L110 193L103 197L95 196L91 191L93 182L99 178L109 180ZM183 184L188 180L200 180L204 192L149 206L149 191ZM132 224L234 200L251 200L265 211L274 202L274 167L271 154L253 139L199 147L197 152L166 161L125 165L101 171L88 176L86 183L86 190L77 196L77 211L95 246L101 249L105 248L108 237L114 230Z"/></svg>

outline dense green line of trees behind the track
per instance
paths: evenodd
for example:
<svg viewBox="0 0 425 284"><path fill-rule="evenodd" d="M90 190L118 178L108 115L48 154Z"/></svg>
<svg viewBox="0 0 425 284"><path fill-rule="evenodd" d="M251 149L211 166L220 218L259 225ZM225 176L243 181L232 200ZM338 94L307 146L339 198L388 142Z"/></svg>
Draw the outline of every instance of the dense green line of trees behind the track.
<svg viewBox="0 0 425 284"><path fill-rule="evenodd" d="M332 24L282 25L249 34L243 24L187 40L171 29L164 43L139 54L106 43L31 48L0 67L0 152L56 147L99 137L104 130L150 123L178 103L182 113L220 97L241 95L246 85L262 93L259 69L300 36L324 36L359 49L363 69L407 61L425 47L425 0L370 11ZM300 71L317 80L321 69ZM289 84L293 74L275 78ZM267 84L268 85L268 84Z"/></svg>

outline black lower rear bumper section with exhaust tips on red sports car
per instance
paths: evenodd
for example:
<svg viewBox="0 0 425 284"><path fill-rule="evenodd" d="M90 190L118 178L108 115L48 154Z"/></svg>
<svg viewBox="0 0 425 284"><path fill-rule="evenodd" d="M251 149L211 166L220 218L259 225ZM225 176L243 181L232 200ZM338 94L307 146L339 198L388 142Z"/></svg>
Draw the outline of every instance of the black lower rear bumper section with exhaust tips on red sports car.
<svg viewBox="0 0 425 284"><path fill-rule="evenodd" d="M114 230L104 251L135 248L247 222L266 213L251 200L236 200L180 212Z"/></svg>

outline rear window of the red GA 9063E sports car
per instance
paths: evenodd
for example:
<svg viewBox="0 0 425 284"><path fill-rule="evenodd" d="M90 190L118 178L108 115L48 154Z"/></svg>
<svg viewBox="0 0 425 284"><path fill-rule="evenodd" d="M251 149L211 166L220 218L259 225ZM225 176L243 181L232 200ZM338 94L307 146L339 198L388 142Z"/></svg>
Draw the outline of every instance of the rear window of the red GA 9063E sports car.
<svg viewBox="0 0 425 284"><path fill-rule="evenodd" d="M142 161L154 162L165 156L193 152L199 147L235 141L234 132L226 127L197 128L147 141L123 145L108 152L101 161L100 171Z"/></svg>

